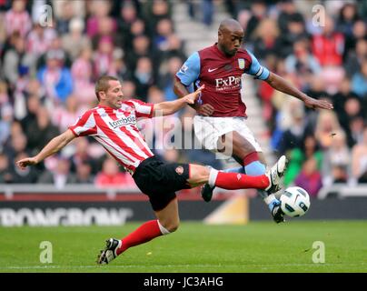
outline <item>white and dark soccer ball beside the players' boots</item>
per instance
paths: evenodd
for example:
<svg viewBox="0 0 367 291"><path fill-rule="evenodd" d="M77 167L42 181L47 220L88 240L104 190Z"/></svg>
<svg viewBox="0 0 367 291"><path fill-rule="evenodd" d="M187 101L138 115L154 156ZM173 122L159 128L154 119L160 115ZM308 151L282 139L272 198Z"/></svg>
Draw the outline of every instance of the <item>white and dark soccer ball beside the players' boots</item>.
<svg viewBox="0 0 367 291"><path fill-rule="evenodd" d="M310 196L301 187L286 188L280 200L283 213L287 216L304 216L310 208Z"/></svg>

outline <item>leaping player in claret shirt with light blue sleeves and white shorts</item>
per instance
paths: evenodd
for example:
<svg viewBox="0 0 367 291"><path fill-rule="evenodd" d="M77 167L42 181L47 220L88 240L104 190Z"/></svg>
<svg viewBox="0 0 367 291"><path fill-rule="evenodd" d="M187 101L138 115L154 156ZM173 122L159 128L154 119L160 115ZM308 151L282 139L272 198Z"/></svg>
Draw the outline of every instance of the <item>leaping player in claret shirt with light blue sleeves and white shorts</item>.
<svg viewBox="0 0 367 291"><path fill-rule="evenodd" d="M253 75L274 89L301 99L309 108L332 109L332 105L303 94L283 77L260 65L252 53L242 48L243 38L240 23L234 19L223 20L218 29L218 42L190 55L177 72L174 93L183 97L189 93L188 86L205 85L193 105L197 113L193 118L196 137L208 150L226 148L227 153L242 165L227 169L226 172L258 176L265 173L266 163L262 148L246 125L247 108L241 97L243 74ZM213 188L208 184L203 186L202 196L205 201L212 199ZM274 221L283 222L279 200L273 194L259 192L269 206Z"/></svg>

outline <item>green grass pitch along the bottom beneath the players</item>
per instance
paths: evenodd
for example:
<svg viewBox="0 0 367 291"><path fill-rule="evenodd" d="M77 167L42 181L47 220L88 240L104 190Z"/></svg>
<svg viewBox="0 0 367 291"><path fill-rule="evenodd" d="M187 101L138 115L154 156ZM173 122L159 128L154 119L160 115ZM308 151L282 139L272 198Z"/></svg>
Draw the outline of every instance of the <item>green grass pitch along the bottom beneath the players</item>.
<svg viewBox="0 0 367 291"><path fill-rule="evenodd" d="M106 238L137 226L0 227L0 272L367 272L367 221L183 223L108 266L95 265ZM39 261L42 241L53 245L52 264ZM325 245L324 264L312 263L314 241Z"/></svg>

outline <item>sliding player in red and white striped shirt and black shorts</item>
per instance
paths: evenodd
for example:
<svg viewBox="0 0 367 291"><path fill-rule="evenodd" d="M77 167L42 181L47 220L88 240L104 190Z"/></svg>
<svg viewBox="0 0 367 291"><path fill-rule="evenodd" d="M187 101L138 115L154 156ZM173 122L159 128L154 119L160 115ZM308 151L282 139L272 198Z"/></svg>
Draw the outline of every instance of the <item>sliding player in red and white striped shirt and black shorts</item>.
<svg viewBox="0 0 367 291"><path fill-rule="evenodd" d="M221 173L193 164L166 164L154 156L136 126L136 119L171 115L184 105L193 104L202 90L203 87L200 87L192 94L171 102L147 104L136 99L124 100L120 81L113 76L102 76L95 85L99 104L87 110L63 134L53 138L36 156L16 162L21 169L38 164L75 137L90 135L132 174L136 185L149 197L157 219L145 222L123 239L108 239L98 256L98 264L108 264L131 246L174 232L180 221L175 195L178 190L204 183L224 189L258 188L270 192L278 191L281 187L285 156L261 176Z"/></svg>

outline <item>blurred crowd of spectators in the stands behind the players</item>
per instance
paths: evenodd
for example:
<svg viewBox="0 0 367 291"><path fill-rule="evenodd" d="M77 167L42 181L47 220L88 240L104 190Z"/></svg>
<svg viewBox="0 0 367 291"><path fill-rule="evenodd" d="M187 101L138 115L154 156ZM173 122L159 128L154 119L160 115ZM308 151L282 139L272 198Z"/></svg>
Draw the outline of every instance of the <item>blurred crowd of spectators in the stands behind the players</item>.
<svg viewBox="0 0 367 291"><path fill-rule="evenodd" d="M217 2L189 1L188 15L199 21L195 7L202 7L202 21L210 26ZM255 83L273 151L291 161L285 184L316 196L322 186L367 183L367 1L221 3L243 25L244 45L263 65L334 105L333 111L312 111L265 82ZM324 15L312 12L317 4ZM43 5L52 7L52 25L40 25ZM0 0L0 183L134 186L86 137L26 171L15 161L35 155L96 105L94 81L100 75L118 76L126 98L175 99L174 74L187 55L174 31L172 5L165 0ZM187 140L194 139L187 122L192 116L187 110L176 115ZM143 127L149 131L151 125ZM153 147L166 138L155 133L147 135ZM200 149L154 151L169 161L222 166Z"/></svg>

